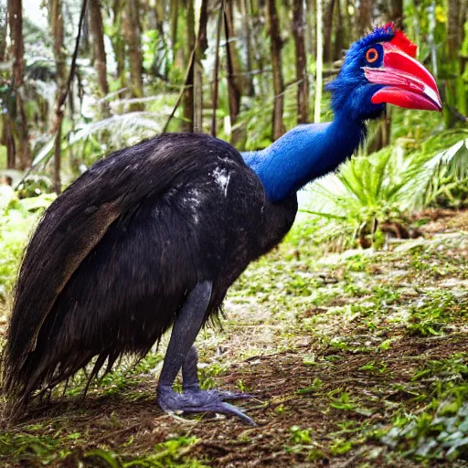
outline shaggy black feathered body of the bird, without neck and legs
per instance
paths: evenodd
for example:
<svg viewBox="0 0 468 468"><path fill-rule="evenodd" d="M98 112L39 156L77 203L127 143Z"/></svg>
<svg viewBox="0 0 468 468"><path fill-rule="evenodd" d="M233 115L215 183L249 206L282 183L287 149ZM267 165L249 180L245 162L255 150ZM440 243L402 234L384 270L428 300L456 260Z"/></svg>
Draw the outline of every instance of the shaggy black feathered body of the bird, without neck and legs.
<svg viewBox="0 0 468 468"><path fill-rule="evenodd" d="M94 356L95 371L144 356L204 281L206 322L296 210L295 196L268 202L239 152L204 134L164 134L93 165L48 208L19 272L4 360L16 408Z"/></svg>

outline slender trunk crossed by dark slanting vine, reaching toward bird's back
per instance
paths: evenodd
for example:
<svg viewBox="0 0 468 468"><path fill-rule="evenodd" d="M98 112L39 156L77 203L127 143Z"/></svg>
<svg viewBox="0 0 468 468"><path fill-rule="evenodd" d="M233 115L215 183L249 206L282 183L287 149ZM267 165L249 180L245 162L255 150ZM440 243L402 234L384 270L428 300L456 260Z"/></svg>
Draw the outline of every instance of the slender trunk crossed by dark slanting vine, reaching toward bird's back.
<svg viewBox="0 0 468 468"><path fill-rule="evenodd" d="M56 63L57 80L57 108L56 124L57 132L54 146L54 187L57 194L61 192L60 165L61 165L61 127L63 110L59 108L59 99L67 85L65 54L63 50L63 3L62 0L49 0L48 15L50 31L54 40L54 57Z"/></svg>

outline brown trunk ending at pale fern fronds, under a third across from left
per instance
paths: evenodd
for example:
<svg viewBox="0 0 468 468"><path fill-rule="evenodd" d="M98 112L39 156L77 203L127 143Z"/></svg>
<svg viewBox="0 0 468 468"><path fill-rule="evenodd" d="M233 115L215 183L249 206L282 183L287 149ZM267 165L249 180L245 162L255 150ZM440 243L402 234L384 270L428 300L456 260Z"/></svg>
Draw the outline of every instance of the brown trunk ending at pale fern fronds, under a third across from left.
<svg viewBox="0 0 468 468"><path fill-rule="evenodd" d="M140 44L142 34L140 27L140 8L138 0L126 0L125 19L123 21L123 35L128 46L130 59L130 91L133 98L143 97L143 57ZM132 111L141 111L141 103L133 103Z"/></svg>

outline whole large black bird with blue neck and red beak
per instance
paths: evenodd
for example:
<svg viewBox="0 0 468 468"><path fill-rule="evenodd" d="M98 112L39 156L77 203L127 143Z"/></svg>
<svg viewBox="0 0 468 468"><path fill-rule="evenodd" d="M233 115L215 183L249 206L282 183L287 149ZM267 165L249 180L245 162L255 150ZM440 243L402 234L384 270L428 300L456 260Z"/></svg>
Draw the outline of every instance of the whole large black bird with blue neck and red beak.
<svg viewBox="0 0 468 468"><path fill-rule="evenodd" d="M11 414L92 363L88 385L121 356L145 356L172 327L161 409L254 424L229 403L245 395L200 388L197 335L242 271L291 229L297 191L351 157L369 120L387 104L441 111L416 51L393 24L373 29L327 85L333 122L299 125L261 151L163 133L77 178L45 211L18 273L2 356Z"/></svg>

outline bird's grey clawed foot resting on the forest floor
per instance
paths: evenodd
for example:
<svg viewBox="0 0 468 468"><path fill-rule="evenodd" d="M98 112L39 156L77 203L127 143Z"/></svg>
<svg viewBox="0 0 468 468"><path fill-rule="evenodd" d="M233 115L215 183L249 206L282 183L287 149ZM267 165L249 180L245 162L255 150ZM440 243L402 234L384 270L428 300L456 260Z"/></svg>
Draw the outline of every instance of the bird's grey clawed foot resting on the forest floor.
<svg viewBox="0 0 468 468"><path fill-rule="evenodd" d="M158 388L157 392L159 406L165 412L219 413L237 416L240 420L252 426L256 425L255 422L239 410L239 408L224 402L224 399L236 399L236 394L233 392L185 388L183 393L177 393L169 386L161 386Z"/></svg>

